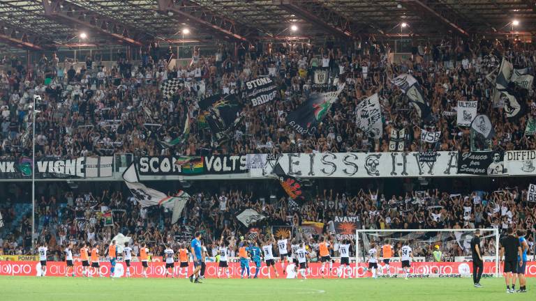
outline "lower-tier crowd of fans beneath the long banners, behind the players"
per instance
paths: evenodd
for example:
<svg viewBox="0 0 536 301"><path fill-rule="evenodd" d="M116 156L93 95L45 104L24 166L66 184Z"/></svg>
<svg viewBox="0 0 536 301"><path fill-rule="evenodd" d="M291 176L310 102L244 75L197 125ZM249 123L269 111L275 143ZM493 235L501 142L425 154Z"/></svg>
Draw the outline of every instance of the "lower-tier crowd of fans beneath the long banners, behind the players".
<svg viewBox="0 0 536 301"><path fill-rule="evenodd" d="M223 189L217 193L197 190L191 194L179 222L171 224L171 212L156 206L142 208L129 192L57 192L39 196L36 229L39 242L47 242L54 258L61 258L62 246L68 242L78 245L98 242L101 249L105 249L117 233L123 233L133 242L147 242L154 254L161 255L164 245L178 247L180 243L188 243L195 231L203 234L209 255L216 255L212 249L216 248L222 236L230 242L233 255L237 252L240 237L252 238L253 235L253 238L265 238L271 232L271 226L294 226L292 238L306 241L315 251L322 236L328 237L334 246L341 242L337 239L340 230L336 229L334 220L335 217L347 216L359 217L362 229L415 229L415 233L418 229L496 228L501 233L505 233L508 227L527 229L530 252L533 252L536 206L523 201L525 197L526 191L508 188L461 194L411 190L387 198L378 190L355 193L324 190L313 194L301 206L295 206L284 197L270 199L253 190ZM8 229L10 221L15 218L10 205L8 200L7 206L2 209ZM267 218L246 226L237 219L237 215L246 208L256 210ZM113 213L113 226L104 222L103 214L110 211ZM305 221L324 223L322 234L302 233L300 226ZM410 237L415 238L410 242L415 246L415 256L432 256L432 247L438 243L433 237L437 234ZM482 252L493 255L495 237L493 233L487 234L491 237L483 239ZM403 240L408 238L401 239L401 235L406 233L394 235L392 240L384 242L391 243L398 250ZM454 233L447 235L449 238L442 238L446 260L470 254L463 242L454 243ZM371 237L371 240L374 238ZM0 238L0 246L3 254L32 253L29 216L25 216L16 229ZM338 255L337 250L337 247L332 250L334 256ZM353 248L352 255L355 256Z"/></svg>

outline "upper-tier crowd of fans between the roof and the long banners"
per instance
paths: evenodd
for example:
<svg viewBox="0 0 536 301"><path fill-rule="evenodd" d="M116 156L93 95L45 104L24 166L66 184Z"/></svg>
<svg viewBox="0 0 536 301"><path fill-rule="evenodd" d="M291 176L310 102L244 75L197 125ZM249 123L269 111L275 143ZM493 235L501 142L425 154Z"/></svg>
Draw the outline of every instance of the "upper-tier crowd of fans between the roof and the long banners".
<svg viewBox="0 0 536 301"><path fill-rule="evenodd" d="M391 61L392 49L376 40L344 47L329 40L324 45L259 43L241 45L237 56L225 46L209 56L200 56L195 49L189 64L170 70L172 52L159 57L151 48L139 62L120 53L111 68L104 67L100 56L88 56L77 70L71 63L59 63L55 54L50 58L43 54L30 70L16 56L6 56L0 75L0 157L28 153L31 139L25 134L34 95L41 98L36 122L38 155L387 151L391 127L405 128L405 149L416 151L422 147L419 128L423 125L407 98L389 82L403 72L417 79L429 101L433 118L426 128L442 132L439 150L470 148L470 131L458 127L452 114L457 100L479 101L479 114L487 114L495 126L491 148L533 149L533 137L523 136L529 116L536 115L533 87L519 99L527 105L527 114L509 120L502 108L493 107L493 84L485 76L498 67L502 56L514 68L533 72L535 50L533 45L509 40L415 41L409 59ZM337 77L346 85L320 130L302 136L285 123L285 116L314 90L311 84L317 68L327 68L332 79ZM244 82L261 76L274 79L281 97L252 107L244 97ZM184 78L186 84L172 99L164 99L159 84L174 77ZM216 93L236 93L245 105L244 118L234 128L235 139L223 145L212 141L199 118L198 101ZM383 136L375 140L355 125L357 103L373 93L380 95L385 127ZM175 138L183 110L191 118L188 140L163 148L157 141ZM147 123L163 126L155 130Z"/></svg>

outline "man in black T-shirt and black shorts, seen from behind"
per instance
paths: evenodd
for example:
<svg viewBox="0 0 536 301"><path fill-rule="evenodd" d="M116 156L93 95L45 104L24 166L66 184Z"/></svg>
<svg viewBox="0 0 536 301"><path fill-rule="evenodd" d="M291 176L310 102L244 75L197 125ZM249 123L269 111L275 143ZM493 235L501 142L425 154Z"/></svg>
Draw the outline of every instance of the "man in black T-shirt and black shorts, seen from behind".
<svg viewBox="0 0 536 301"><path fill-rule="evenodd" d="M516 238L514 234L514 229L508 228L508 236L505 238L502 238L500 242L500 254L499 259L502 258L502 256L505 256L505 266L503 269L503 272L505 273L505 280L506 280L506 293L515 293L514 286L515 283L512 283L512 273L517 272L517 256L519 255L520 258L523 257L523 252L521 252L521 244L519 243L519 239ZM520 265L523 264L522 261L519 261ZM512 288L510 288L510 284L512 283Z"/></svg>

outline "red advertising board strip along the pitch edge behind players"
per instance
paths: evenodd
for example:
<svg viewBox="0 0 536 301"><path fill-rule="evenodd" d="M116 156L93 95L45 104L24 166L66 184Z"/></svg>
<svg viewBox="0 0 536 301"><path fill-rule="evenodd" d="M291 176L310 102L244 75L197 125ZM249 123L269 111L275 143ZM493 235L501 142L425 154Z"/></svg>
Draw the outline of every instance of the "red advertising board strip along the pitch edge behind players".
<svg viewBox="0 0 536 301"><path fill-rule="evenodd" d="M472 273L472 264L463 263L463 262L448 262L448 263L431 263L431 262L414 262L411 263L412 267L410 269L411 277L466 277ZM253 263L251 266L251 275L255 274L255 266ZM383 264L380 264L382 267ZM175 267L178 268L179 264L175 263ZM367 265L365 263L359 263L358 268L355 268L355 264L350 265L352 268L351 276L355 277L357 272L357 277L370 277L371 272L366 269ZM66 263L58 261L49 261L47 262L47 276L64 276L66 273ZM125 268L126 265L123 262L119 262L116 265L116 277L125 277ZM280 277L287 277L283 275L281 270L281 265L276 264L276 268ZM326 265L328 268L328 265ZM339 263L334 263L331 271L327 272L327 278L335 278L338 275ZM40 263L36 261L0 261L0 275L9 275L9 276L36 276L38 275L38 270L40 269ZM320 278L322 273L320 272L321 263L309 263L309 270L306 273L308 278ZM91 269L90 269L91 270ZM142 264L139 262L131 263L129 268L131 277L142 277ZM177 269L178 270L178 269ZM188 272L193 270L193 264L188 267ZM101 275L108 276L110 275L110 263L103 262L101 263L101 268L99 268ZM185 272L184 270L182 271ZM229 263L229 272L232 278L240 277L240 264L239 263ZM266 265L262 265L259 272L260 278L268 277L269 269ZM270 270L272 273L271 277L274 278L273 270ZM350 270L345 271L345 274L348 276ZM392 263L390 272L392 275L401 274L401 264ZM486 262L484 263L484 275L493 276L495 275L495 263ZM502 272L502 267L500 267L499 272ZM205 277L214 278L217 277L218 273L218 263L207 263L207 270L205 272ZM223 271L222 271L223 273ZM287 274L292 275L292 268L287 268ZM77 277L82 276L82 265L78 262L75 263L75 275ZM149 268L147 270L147 275L149 277L165 277L165 263L154 262L149 263ZM387 275L387 272L384 270L381 273L378 273L379 277ZM184 277L185 275L182 275ZM528 262L526 267L526 276L527 277L536 277L536 262ZM299 276L301 277L301 276Z"/></svg>

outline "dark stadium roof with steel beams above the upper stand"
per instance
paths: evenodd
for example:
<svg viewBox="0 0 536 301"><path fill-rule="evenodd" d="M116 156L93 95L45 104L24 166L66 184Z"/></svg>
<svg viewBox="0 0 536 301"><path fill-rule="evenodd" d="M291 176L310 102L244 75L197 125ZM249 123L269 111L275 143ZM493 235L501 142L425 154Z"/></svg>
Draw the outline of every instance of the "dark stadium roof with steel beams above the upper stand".
<svg viewBox="0 0 536 301"><path fill-rule="evenodd" d="M1 0L0 43L52 49L149 40L253 41L536 31L534 0ZM292 25L297 30L292 30ZM182 29L191 33L184 37Z"/></svg>

